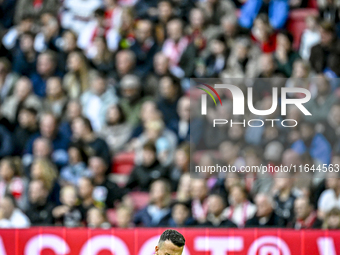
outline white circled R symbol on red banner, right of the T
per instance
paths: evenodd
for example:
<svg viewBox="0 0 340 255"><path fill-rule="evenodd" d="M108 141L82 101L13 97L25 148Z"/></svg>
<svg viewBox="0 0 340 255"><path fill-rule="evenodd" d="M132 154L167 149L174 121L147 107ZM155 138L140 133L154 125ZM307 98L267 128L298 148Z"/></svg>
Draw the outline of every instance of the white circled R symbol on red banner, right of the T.
<svg viewBox="0 0 340 255"><path fill-rule="evenodd" d="M276 236L262 236L250 246L247 255L290 255L290 250L285 241Z"/></svg>

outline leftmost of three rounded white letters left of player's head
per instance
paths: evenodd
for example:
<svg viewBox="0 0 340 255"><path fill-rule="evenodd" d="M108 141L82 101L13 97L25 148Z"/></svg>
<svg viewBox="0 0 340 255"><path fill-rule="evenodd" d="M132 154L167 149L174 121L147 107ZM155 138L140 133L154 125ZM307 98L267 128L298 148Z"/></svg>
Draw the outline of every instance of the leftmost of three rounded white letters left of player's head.
<svg viewBox="0 0 340 255"><path fill-rule="evenodd" d="M40 255L44 249L51 249L56 255L70 253L70 247L65 240L57 235L41 234L32 237L25 247L25 255Z"/></svg>

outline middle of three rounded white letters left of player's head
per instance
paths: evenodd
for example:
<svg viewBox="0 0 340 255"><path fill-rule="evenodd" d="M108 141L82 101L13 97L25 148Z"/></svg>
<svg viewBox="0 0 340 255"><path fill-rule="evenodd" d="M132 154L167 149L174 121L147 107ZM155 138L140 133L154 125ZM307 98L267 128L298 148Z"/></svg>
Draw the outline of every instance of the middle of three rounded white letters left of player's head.
<svg viewBox="0 0 340 255"><path fill-rule="evenodd" d="M114 255L130 255L125 242L113 235L98 235L89 239L80 251L80 255L97 255L108 250Z"/></svg>

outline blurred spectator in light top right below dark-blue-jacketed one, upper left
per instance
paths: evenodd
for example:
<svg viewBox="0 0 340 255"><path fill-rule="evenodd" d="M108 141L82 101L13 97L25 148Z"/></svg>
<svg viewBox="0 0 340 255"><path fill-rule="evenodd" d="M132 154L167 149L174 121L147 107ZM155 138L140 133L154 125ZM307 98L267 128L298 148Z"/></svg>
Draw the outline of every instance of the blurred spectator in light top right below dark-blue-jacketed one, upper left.
<svg viewBox="0 0 340 255"><path fill-rule="evenodd" d="M60 118L65 111L67 96L62 86L60 77L51 77L46 81L46 98L43 107Z"/></svg>

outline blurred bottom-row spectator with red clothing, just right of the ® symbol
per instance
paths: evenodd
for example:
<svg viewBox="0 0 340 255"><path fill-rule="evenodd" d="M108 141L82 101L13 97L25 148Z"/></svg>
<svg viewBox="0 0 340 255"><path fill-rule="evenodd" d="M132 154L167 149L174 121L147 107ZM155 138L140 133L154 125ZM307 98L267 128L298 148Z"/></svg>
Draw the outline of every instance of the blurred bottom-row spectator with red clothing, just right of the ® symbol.
<svg viewBox="0 0 340 255"><path fill-rule="evenodd" d="M296 198L294 202L295 220L292 227L295 229L320 228L322 222L318 219L313 205L307 197Z"/></svg>

